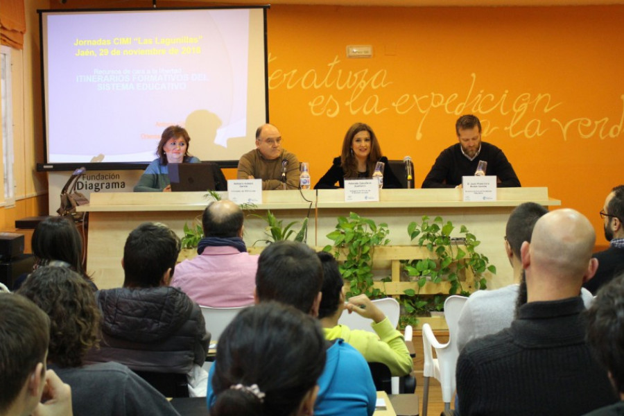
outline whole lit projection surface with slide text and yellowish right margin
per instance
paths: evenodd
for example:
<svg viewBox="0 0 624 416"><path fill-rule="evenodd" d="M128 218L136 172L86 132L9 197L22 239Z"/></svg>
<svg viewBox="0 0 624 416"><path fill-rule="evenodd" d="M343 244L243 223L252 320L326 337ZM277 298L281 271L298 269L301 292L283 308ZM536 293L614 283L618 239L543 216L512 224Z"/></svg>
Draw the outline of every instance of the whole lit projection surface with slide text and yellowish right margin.
<svg viewBox="0 0 624 416"><path fill-rule="evenodd" d="M263 8L42 12L46 163L236 160L266 121Z"/></svg>

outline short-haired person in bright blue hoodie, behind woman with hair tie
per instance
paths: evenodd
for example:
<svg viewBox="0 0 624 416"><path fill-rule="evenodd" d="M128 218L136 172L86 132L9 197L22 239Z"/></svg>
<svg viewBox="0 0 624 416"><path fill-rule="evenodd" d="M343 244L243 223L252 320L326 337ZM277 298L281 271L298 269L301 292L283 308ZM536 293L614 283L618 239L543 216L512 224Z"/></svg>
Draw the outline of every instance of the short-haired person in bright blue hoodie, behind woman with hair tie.
<svg viewBox="0 0 624 416"><path fill-rule="evenodd" d="M316 253L303 243L279 241L263 250L256 274L257 303L277 301L318 316L321 299L322 266ZM223 337L222 337L223 338ZM297 349L298 345L291 345ZM207 400L214 403L210 369ZM319 392L314 414L372 415L375 386L362 354L338 339L327 348L324 370L318 379Z"/></svg>

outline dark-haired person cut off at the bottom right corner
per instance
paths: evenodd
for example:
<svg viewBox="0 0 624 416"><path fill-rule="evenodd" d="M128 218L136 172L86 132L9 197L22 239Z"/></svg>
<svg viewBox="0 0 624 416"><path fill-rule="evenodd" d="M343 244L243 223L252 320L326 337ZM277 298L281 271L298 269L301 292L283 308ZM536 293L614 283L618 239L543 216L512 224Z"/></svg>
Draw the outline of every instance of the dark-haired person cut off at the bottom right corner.
<svg viewBox="0 0 624 416"><path fill-rule="evenodd" d="M593 410L587 416L624 415L624 275L600 288L586 318L589 348L609 372L614 390L620 396L616 404Z"/></svg>

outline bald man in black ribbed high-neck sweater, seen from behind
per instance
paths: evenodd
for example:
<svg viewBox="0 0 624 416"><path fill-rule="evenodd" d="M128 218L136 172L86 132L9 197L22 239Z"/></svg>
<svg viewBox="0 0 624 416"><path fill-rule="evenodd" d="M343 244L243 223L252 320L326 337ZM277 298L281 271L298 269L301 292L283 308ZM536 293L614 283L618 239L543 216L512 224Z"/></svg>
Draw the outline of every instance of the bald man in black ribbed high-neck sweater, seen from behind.
<svg viewBox="0 0 624 416"><path fill-rule="evenodd" d="M460 415L584 415L617 400L580 318L581 286L598 266L595 240L589 220L573 209L537 220L520 249L526 300L516 319L460 353Z"/></svg>

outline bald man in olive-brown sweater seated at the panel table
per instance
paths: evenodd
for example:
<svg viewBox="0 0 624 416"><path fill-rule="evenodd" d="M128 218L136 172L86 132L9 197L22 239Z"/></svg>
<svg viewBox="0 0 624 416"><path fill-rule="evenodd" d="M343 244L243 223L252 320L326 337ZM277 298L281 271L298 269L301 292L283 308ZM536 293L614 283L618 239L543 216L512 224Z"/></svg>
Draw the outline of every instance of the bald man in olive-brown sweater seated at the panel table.
<svg viewBox="0 0 624 416"><path fill-rule="evenodd" d="M256 148L239 160L238 179L261 179L262 189L298 189L299 160L281 147L281 133L272 124L256 130Z"/></svg>

